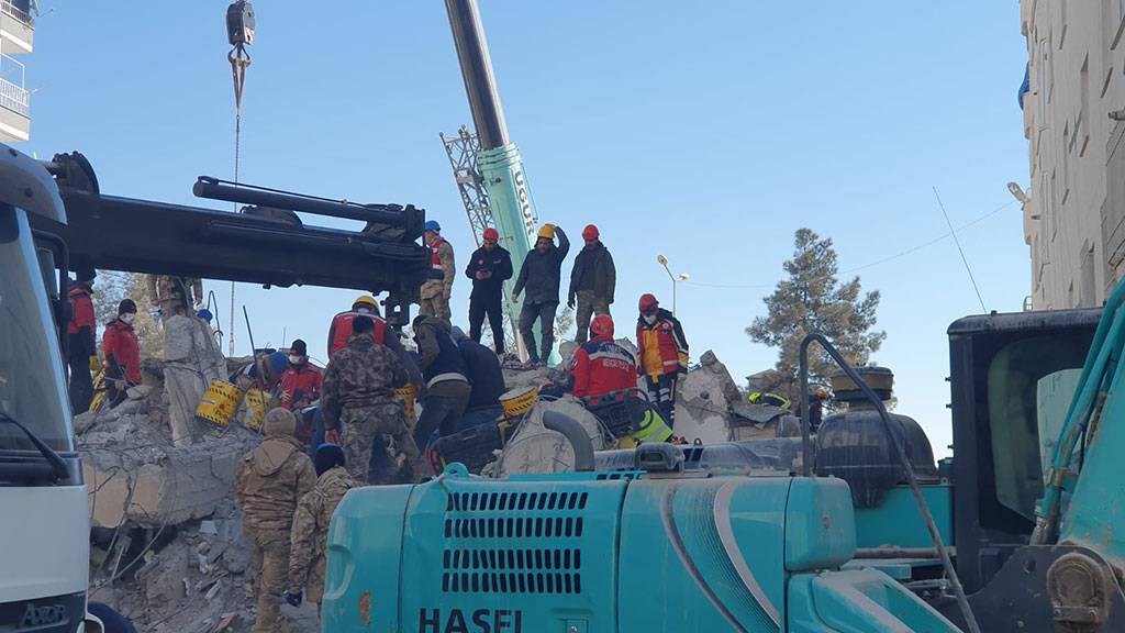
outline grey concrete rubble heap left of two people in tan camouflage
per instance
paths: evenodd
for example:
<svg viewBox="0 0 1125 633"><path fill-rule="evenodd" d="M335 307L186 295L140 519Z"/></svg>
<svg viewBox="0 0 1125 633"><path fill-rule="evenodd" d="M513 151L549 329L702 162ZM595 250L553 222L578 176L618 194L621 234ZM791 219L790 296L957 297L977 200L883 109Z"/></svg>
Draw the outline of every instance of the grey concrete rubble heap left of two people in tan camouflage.
<svg viewBox="0 0 1125 633"><path fill-rule="evenodd" d="M238 425L197 428L177 446L160 368L146 360L128 401L75 418L90 490L90 599L138 631L249 631L252 554L233 490L260 437ZM320 630L315 606L282 613L291 633Z"/></svg>

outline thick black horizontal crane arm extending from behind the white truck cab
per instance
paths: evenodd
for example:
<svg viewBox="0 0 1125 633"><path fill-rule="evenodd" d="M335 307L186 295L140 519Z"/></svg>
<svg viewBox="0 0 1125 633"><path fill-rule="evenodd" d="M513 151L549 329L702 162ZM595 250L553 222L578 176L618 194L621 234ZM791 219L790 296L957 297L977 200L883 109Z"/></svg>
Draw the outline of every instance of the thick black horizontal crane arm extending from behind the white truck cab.
<svg viewBox="0 0 1125 633"><path fill-rule="evenodd" d="M35 217L35 229L60 234L70 267L177 275L261 284L387 292L387 316L405 323L428 270L415 240L425 212L413 205L360 205L201 177L199 197L244 203L240 213L106 196L80 153L47 164L66 209L60 225ZM297 213L366 222L360 231L306 225Z"/></svg>

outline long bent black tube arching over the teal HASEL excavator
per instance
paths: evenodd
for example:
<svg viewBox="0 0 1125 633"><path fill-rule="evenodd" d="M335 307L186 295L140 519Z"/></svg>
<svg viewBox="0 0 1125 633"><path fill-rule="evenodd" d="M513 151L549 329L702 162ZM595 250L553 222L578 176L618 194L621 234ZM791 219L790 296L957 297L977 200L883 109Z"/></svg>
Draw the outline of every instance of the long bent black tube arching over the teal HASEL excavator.
<svg viewBox="0 0 1125 633"><path fill-rule="evenodd" d="M976 624L976 617L973 616L973 609L969 606L969 598L965 597L965 588L961 585L961 579L957 578L957 570L953 567L953 559L950 558L950 549L945 546L942 542L942 534L937 529L937 523L934 521L934 515L929 512L929 507L926 506L926 499L921 496L921 488L918 487L918 479L915 476L914 466L910 464L910 460L907 457L907 452L901 445L901 437L896 433L894 426L891 424L891 418L886 413L886 407L883 405L883 401L875 395L875 392L867 385L867 382L863 380L862 376L840 356L840 353L836 350L831 342L824 335L812 333L801 341L801 439L806 451L809 451L811 446L811 440L809 439L809 417L806 414L808 410L808 392L809 392L809 345L812 341L820 344L820 347L832 357L832 360L839 365L840 369L847 374L847 377L860 387L863 395L874 404L875 410L879 411L879 418L883 421L883 428L886 430L888 436L891 438L891 446L893 446L894 453L898 456L899 464L907 472L907 482L910 484L910 491L914 492L915 500L918 502L918 510L921 512L922 519L926 521L926 528L929 531L930 537L934 540L934 549L937 550L937 554L942 558L942 567L945 569L945 574L950 578L950 585L953 586L953 594L957 599L957 607L961 608L961 615L965 618L965 624L969 626L970 633L980 633L980 625ZM809 475L809 458L810 453L806 453L801 461L804 463L803 472L806 476Z"/></svg>

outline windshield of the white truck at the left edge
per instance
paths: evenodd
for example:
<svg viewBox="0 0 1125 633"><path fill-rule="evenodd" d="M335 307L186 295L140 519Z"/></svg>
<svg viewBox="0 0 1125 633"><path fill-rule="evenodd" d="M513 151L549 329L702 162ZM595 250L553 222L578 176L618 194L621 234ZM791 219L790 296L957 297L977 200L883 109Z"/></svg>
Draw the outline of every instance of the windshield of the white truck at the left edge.
<svg viewBox="0 0 1125 633"><path fill-rule="evenodd" d="M0 206L0 413L58 452L74 449L62 360L43 275L22 209ZM0 452L36 451L0 425Z"/></svg>

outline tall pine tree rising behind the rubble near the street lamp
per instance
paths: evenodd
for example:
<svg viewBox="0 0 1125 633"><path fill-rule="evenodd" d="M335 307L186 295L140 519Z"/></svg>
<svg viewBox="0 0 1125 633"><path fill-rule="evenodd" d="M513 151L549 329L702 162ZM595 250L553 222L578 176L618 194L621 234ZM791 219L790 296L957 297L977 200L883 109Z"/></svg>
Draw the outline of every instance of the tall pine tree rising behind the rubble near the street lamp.
<svg viewBox="0 0 1125 633"><path fill-rule="evenodd" d="M872 331L879 291L861 298L860 277L840 283L836 249L830 238L820 239L811 229L794 237L793 258L783 266L788 278L777 282L773 294L763 300L767 314L746 328L756 342L777 348L776 372L771 391L791 399L798 395L801 340L809 333L828 338L853 366L866 365L879 351L886 332ZM809 382L826 385L835 363L819 345L809 347Z"/></svg>

